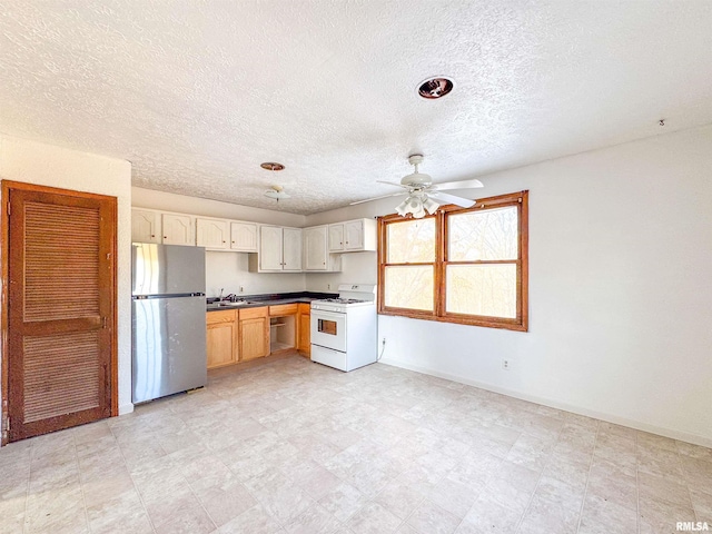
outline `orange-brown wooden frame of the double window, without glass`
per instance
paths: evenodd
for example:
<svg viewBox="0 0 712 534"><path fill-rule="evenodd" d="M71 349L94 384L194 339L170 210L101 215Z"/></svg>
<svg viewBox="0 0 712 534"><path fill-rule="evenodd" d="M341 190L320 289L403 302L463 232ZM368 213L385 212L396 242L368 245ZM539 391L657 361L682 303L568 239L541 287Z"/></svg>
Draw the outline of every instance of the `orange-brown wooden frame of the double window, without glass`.
<svg viewBox="0 0 712 534"><path fill-rule="evenodd" d="M448 218L452 215L482 211L503 207L517 208L517 258L515 260L447 260ZM472 208L455 205L441 206L434 215L423 219L435 219L435 263L433 310L412 308L396 308L385 305L385 271L386 267L421 264L388 264L388 225L414 220L412 216L402 217L397 214L378 217L378 314L413 319L436 320L459 325L483 326L488 328L504 328L508 330L528 332L528 190L496 197L478 199ZM456 314L446 312L446 269L447 265L516 265L516 317L492 317L484 315ZM429 263L426 265L431 265Z"/></svg>

